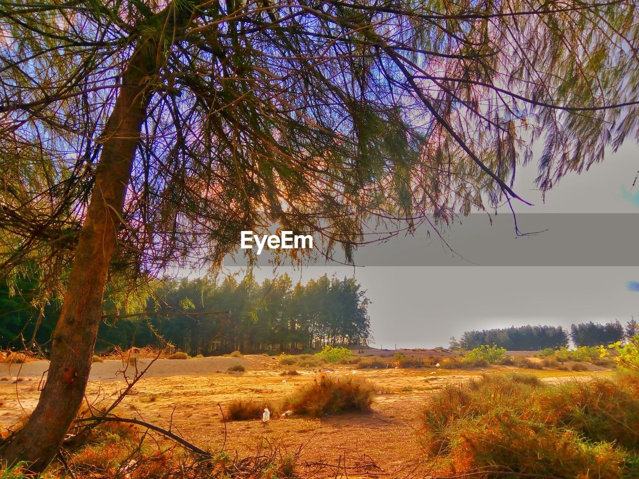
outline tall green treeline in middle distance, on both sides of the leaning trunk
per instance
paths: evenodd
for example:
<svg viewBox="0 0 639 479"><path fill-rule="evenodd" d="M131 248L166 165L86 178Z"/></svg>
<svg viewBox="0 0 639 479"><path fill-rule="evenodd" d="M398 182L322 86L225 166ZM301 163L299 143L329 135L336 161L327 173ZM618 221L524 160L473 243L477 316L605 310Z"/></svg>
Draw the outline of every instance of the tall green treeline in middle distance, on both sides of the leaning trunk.
<svg viewBox="0 0 639 479"><path fill-rule="evenodd" d="M0 285L0 347L31 349L35 342L46 351L59 311L47 307L38 321L38 311L28 300L35 284L20 278L17 287L21 295ZM324 275L305 285L294 285L286 274L261 284L252 275L239 281L226 277L219 283L171 280L146 301L146 312L152 314L106 318L98 330L96 351L162 342L191 355L362 345L371 336L368 305L365 291L353 278ZM203 314L220 311L228 313Z"/></svg>

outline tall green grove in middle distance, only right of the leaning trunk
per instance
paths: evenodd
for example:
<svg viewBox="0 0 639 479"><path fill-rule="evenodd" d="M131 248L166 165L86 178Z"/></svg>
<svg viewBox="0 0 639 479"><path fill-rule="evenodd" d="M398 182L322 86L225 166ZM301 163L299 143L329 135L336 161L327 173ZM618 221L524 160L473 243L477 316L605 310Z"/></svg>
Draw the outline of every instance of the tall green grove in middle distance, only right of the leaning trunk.
<svg viewBox="0 0 639 479"><path fill-rule="evenodd" d="M156 306L150 300L146 310L157 308L160 315L119 319L115 328L102 323L98 350L105 346L128 349L131 338L135 338L133 346L157 345L153 330L188 354L206 356L237 350L275 356L276 351L308 348L320 338L358 344L370 334L368 300L351 278L323 276L306 285L293 284L286 274L262 284L250 274L241 280L225 277L217 282L184 278L167 282L156 296L161 301ZM185 298L199 300L182 314L180 304ZM211 311L229 311L222 317L234 327L224 327L215 316L189 316ZM171 315L162 316L162 312ZM258 321L253 321L254 316Z"/></svg>

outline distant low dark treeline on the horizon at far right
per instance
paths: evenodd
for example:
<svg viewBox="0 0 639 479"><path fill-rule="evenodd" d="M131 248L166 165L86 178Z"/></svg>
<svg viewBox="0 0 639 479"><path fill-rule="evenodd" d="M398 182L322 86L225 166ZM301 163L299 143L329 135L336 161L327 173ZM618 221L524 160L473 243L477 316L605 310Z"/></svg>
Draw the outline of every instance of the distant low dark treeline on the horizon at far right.
<svg viewBox="0 0 639 479"><path fill-rule="evenodd" d="M626 326L619 321L598 324L590 321L571 325L570 332L562 326L511 326L481 331L465 331L459 340L450 338L452 349L473 349L497 345L509 351L539 351L548 347L559 349L574 346L599 346L631 338L639 334L639 324L632 319Z"/></svg>

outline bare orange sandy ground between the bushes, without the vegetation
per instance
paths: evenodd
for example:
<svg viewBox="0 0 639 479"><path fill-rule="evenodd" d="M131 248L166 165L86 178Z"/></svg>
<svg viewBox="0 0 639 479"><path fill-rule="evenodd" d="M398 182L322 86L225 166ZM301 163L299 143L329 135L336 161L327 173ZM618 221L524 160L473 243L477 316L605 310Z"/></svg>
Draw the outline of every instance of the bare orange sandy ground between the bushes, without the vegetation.
<svg viewBox="0 0 639 479"><path fill-rule="evenodd" d="M410 355L410 351L406 355ZM138 369L146 367L149 361L140 360ZM319 476L423 477L428 471L422 464L424 454L415 431L419 429L419 412L427 397L445 383L466 381L482 372L338 367L330 370L332 372L298 369L300 376L284 377L280 376L283 369L277 363L277 359L267 356L158 360L135 384L132 395L116 412L167 429L171 427L206 450L224 448L233 454L237 451L240 457L256 453L259 446L278 447L284 457L301 448L300 460L306 464L306 472L319 470ZM246 372L227 372L229 366L236 364L242 364ZM26 363L21 368L0 364L0 376L3 376L0 377L1 427L10 427L35 407L38 385L46 369L47 363L43 361ZM118 360L94 363L88 400L94 404L100 400L110 404L114 395L127 386L123 369L122 361ZM574 373L559 371L533 372L550 381L574 376ZM134 367L129 366L125 374L132 376L133 373ZM378 394L372 411L323 419L275 417L266 427L258 420L226 422L225 434L220 413L225 403L238 397L277 402L322 373L355 374L375 383ZM590 374L595 373L580 376ZM337 471L338 462L340 468L346 469Z"/></svg>

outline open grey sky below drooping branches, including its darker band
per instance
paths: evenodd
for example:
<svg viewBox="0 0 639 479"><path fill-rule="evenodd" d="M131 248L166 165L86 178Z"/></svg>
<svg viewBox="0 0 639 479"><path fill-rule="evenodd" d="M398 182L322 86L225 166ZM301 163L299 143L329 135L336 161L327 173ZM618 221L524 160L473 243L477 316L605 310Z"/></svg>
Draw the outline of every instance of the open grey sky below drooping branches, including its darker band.
<svg viewBox="0 0 639 479"><path fill-rule="evenodd" d="M420 230L360 248L358 268L276 274L302 282L325 273L355 277L371 300L371 346L387 349L448 346L451 336L475 329L626 323L639 318L639 216L627 215L639 213L638 160L639 148L627 142L589 171L563 178L545 202L534 187L535 166L520 169L514 190L534 206L514 205L518 224L525 232L548 229L537 235L517 238L512 215L500 210L492 226L481 215L444 232L455 253ZM273 277L272 268L255 272L259 281Z"/></svg>

